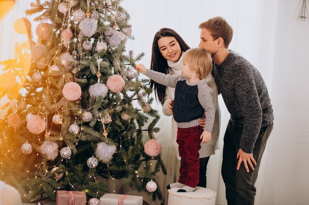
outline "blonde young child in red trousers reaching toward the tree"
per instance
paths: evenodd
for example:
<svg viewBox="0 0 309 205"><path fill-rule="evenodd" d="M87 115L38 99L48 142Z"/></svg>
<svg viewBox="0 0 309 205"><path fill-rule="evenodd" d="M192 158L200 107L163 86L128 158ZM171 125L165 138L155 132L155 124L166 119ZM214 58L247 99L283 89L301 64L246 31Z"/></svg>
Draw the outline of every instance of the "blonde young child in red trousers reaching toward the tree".
<svg viewBox="0 0 309 205"><path fill-rule="evenodd" d="M179 180L169 184L167 189L178 187L178 192L192 192L199 181L199 154L201 143L208 143L214 124L215 108L212 101L212 89L204 78L211 72L211 56L202 48L192 48L185 52L182 75L166 75L148 70L143 64L137 64L136 70L155 82L175 88L173 113L177 122L177 144L181 164ZM205 114L204 129L199 121Z"/></svg>

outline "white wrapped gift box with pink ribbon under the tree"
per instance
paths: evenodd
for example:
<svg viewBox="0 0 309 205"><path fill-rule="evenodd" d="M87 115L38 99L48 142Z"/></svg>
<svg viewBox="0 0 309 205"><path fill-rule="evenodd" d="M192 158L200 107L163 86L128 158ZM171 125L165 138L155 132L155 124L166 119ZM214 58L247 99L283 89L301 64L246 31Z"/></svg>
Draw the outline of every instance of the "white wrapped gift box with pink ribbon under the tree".
<svg viewBox="0 0 309 205"><path fill-rule="evenodd" d="M121 194L104 194L100 198L100 205L143 205L143 197Z"/></svg>

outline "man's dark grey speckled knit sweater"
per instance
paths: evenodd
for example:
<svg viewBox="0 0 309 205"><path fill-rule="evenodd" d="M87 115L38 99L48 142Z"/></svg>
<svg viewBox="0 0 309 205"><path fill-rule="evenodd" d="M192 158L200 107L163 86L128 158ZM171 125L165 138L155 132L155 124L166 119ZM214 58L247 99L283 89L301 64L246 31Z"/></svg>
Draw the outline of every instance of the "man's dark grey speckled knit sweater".
<svg viewBox="0 0 309 205"><path fill-rule="evenodd" d="M212 72L233 125L243 127L240 148L252 153L261 126L273 122L270 97L259 71L248 60L229 51L220 66L213 63Z"/></svg>

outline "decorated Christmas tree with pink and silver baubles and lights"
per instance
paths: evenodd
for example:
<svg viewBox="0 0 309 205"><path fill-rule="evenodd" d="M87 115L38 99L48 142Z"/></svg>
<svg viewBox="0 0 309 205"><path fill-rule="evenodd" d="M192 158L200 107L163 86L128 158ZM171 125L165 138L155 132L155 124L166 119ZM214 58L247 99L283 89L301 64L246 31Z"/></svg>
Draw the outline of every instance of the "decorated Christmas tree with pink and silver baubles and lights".
<svg viewBox="0 0 309 205"><path fill-rule="evenodd" d="M0 98L9 99L0 128L1 180L12 184L13 176L33 197L66 189L95 198L108 192L104 178L126 178L125 185L162 199L154 178L166 174L153 139L159 115L149 80L134 69L144 54L125 50L133 36L119 3L36 0L26 14L41 22L37 42L31 23L18 20L26 27L16 31L29 40L16 45L14 59L0 62Z"/></svg>

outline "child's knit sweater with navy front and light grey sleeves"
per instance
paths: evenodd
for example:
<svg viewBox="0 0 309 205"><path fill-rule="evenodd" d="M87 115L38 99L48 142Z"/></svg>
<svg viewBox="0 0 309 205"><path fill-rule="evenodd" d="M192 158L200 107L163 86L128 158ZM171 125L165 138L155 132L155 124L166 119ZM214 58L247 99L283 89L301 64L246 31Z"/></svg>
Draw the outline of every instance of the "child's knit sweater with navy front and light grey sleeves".
<svg viewBox="0 0 309 205"><path fill-rule="evenodd" d="M182 75L169 75L153 70L147 70L145 75L159 84L175 88L173 113L177 127L197 126L205 113L204 131L212 131L215 107L212 101L212 89L204 79L190 83Z"/></svg>

